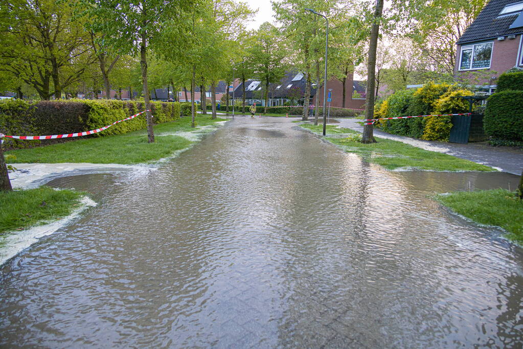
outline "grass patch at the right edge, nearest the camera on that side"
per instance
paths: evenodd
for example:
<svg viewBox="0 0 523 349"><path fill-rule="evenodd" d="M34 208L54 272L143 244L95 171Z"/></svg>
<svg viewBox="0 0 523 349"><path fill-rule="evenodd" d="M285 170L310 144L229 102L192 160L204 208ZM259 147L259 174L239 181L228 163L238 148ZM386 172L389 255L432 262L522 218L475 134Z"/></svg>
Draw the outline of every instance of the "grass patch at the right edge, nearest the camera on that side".
<svg viewBox="0 0 523 349"><path fill-rule="evenodd" d="M505 229L506 237L523 244L523 201L504 189L440 194L436 200L476 223Z"/></svg>

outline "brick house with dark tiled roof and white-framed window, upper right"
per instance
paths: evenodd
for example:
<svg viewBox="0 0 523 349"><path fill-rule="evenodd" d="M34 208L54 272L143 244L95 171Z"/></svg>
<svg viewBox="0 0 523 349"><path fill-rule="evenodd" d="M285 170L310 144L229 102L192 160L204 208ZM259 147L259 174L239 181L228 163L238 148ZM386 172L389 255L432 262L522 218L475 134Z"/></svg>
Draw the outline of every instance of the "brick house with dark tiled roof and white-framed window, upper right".
<svg viewBox="0 0 523 349"><path fill-rule="evenodd" d="M456 77L471 80L471 73L483 73L479 83L491 94L499 75L523 67L522 34L523 2L491 0L457 42Z"/></svg>

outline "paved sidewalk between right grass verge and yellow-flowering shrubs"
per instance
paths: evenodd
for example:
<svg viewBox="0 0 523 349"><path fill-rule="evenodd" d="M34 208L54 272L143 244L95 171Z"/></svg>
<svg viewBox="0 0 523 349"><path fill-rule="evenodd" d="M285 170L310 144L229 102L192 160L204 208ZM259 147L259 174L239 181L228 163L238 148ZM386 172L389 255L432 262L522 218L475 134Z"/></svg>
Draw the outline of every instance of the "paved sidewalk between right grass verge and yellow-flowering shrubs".
<svg viewBox="0 0 523 349"><path fill-rule="evenodd" d="M358 119L336 119L340 127L363 132L363 126L358 124ZM411 144L419 148L433 152L445 153L461 159L467 159L478 164L492 166L503 172L521 175L523 170L523 149L511 147L492 147L482 143L448 143L436 141L422 141L410 137L393 135L374 129L374 135L381 138L394 139L403 143Z"/></svg>

